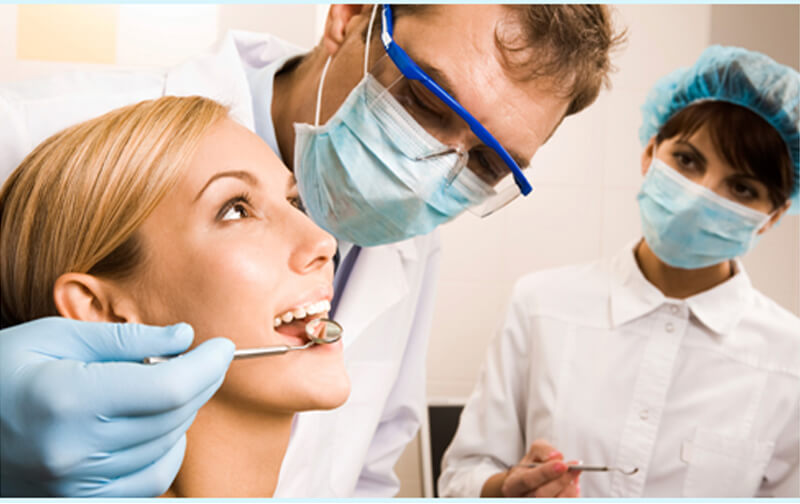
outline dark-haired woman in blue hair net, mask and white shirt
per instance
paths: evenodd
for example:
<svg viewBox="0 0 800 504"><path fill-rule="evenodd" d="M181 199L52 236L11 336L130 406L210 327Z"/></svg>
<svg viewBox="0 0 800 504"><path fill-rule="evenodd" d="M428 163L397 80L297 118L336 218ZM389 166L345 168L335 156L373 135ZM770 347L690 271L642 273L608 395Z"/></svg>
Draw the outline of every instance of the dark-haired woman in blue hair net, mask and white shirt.
<svg viewBox="0 0 800 504"><path fill-rule="evenodd" d="M638 469L584 471L589 497L800 496L800 320L737 260L800 210L799 87L718 46L656 85L644 238L517 284L441 493L575 496L563 453Z"/></svg>

